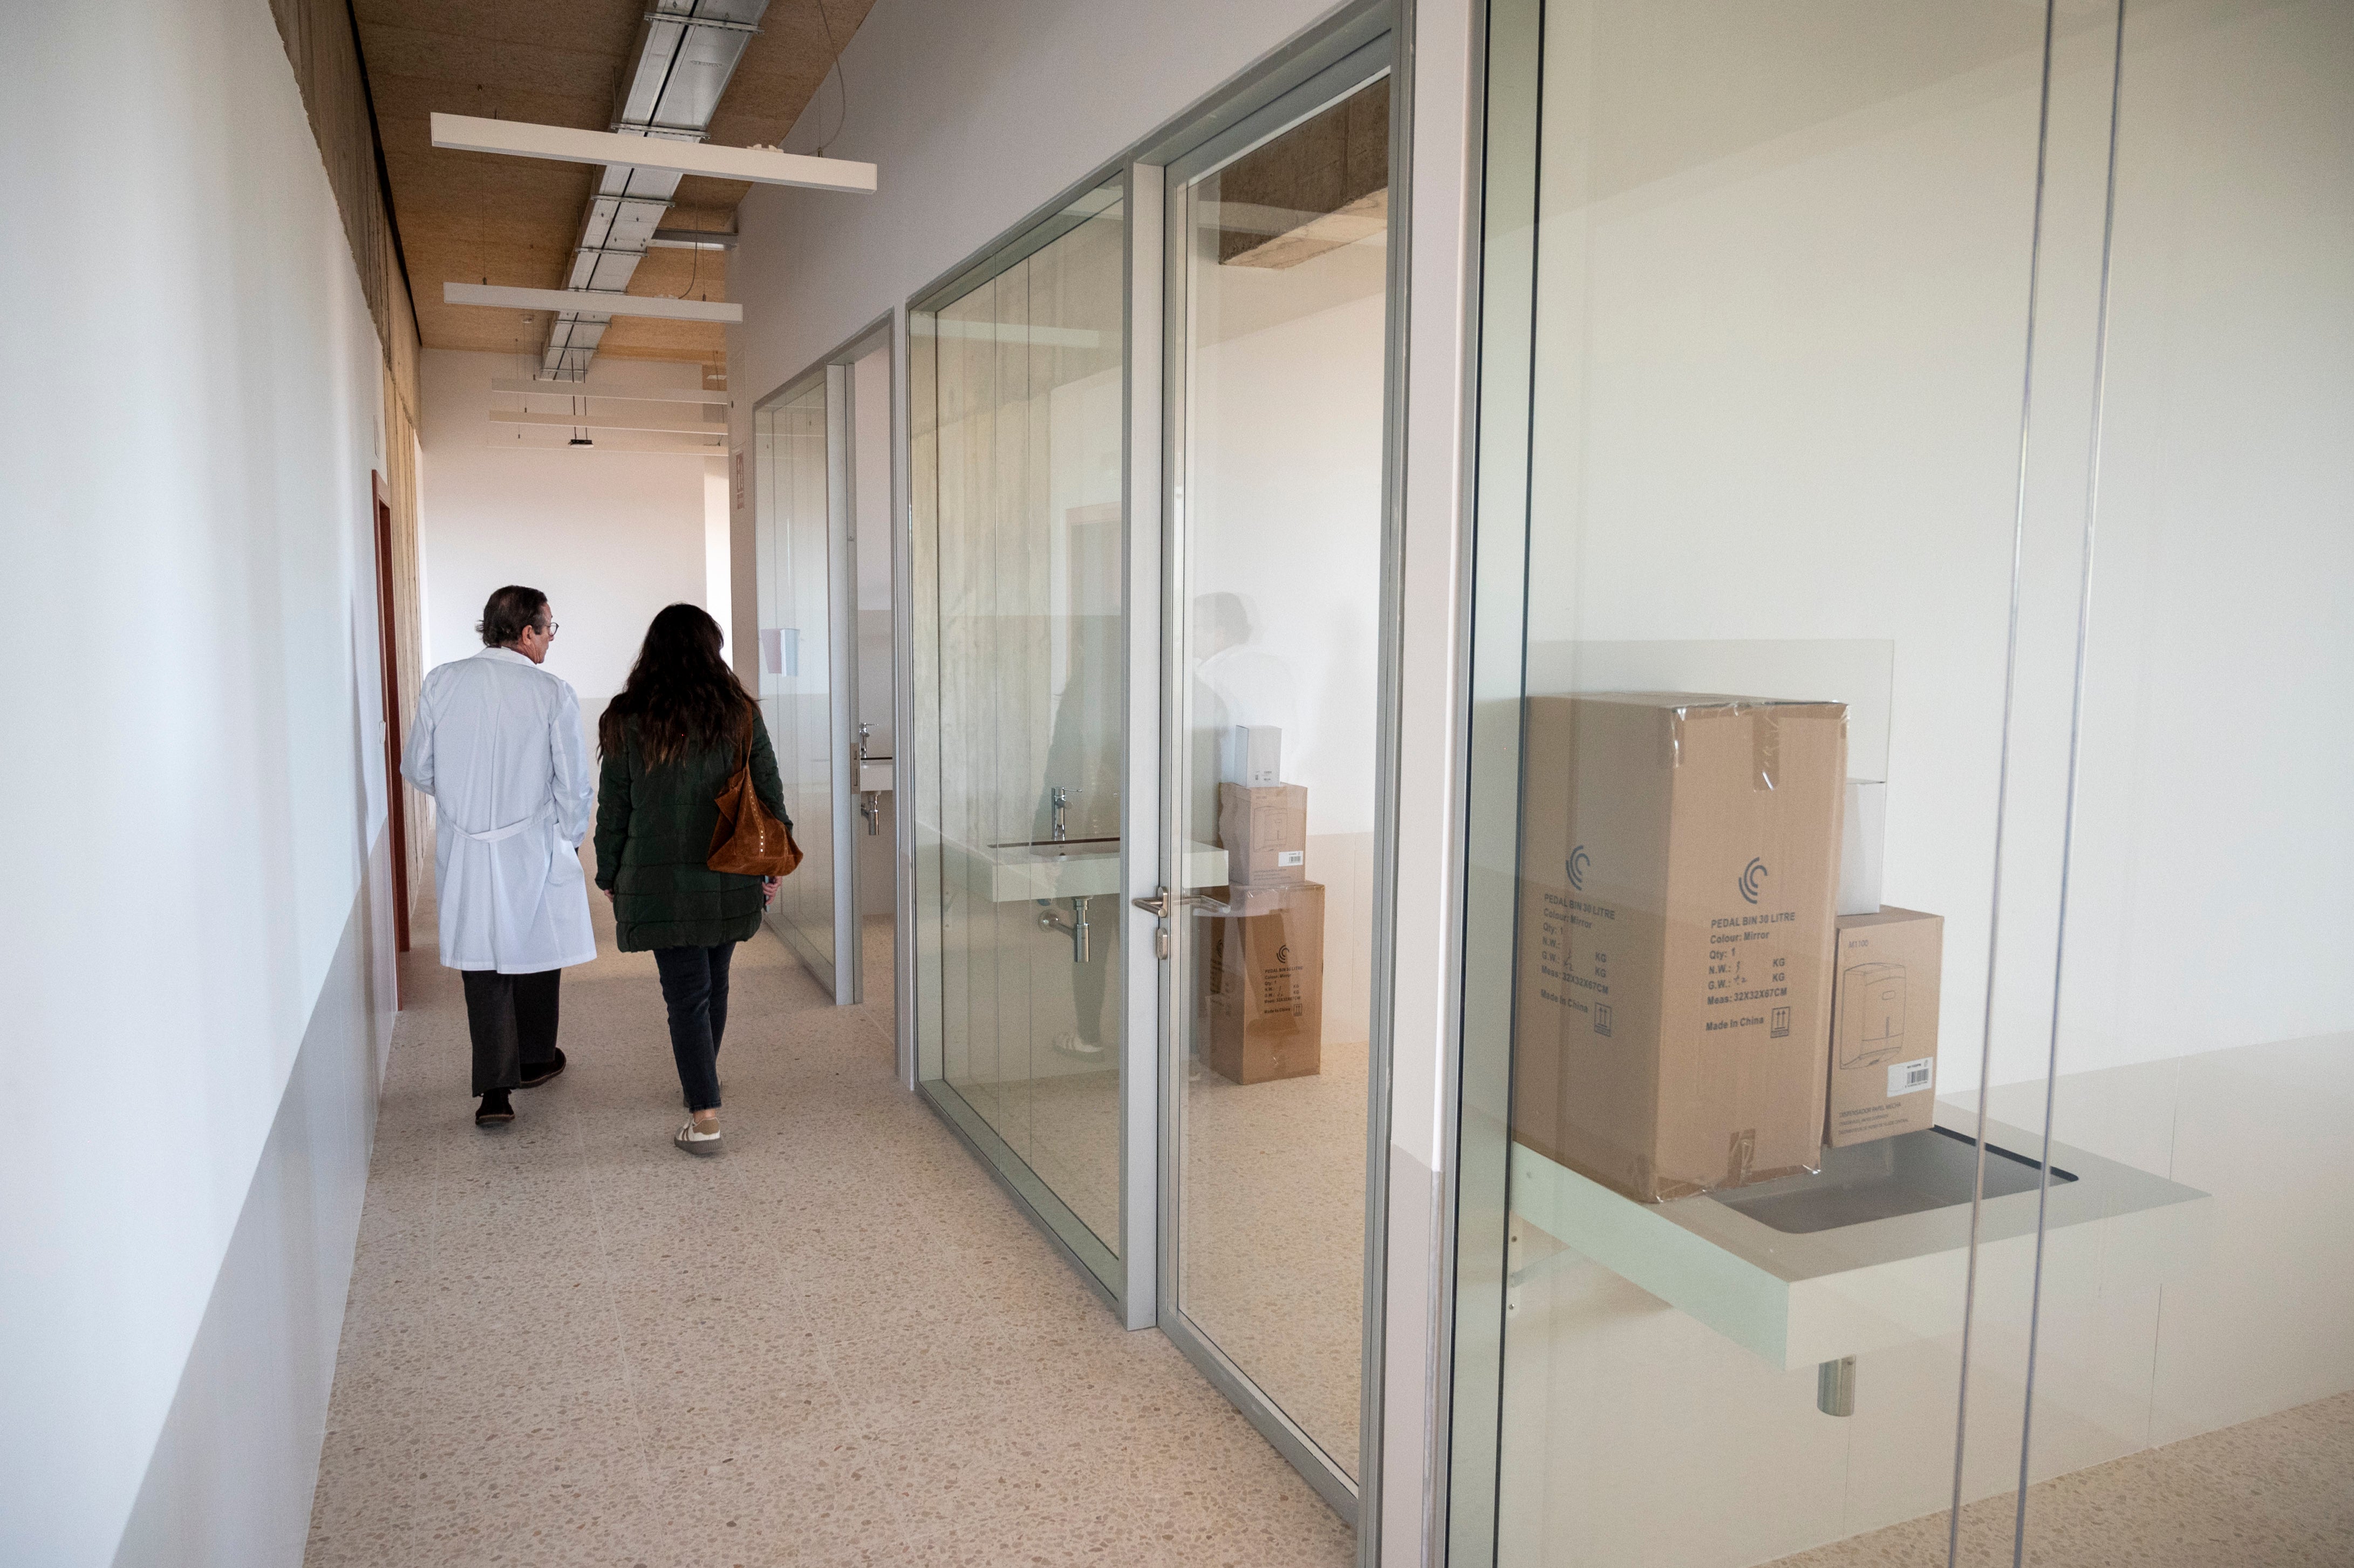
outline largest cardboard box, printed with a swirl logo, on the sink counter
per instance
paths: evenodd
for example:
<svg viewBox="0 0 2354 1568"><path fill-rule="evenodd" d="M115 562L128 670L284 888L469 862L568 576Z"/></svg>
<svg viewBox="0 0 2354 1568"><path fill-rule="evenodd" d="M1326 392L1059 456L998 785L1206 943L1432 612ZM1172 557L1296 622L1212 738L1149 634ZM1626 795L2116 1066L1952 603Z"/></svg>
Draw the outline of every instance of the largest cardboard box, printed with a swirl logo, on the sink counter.
<svg viewBox="0 0 2354 1568"><path fill-rule="evenodd" d="M1838 702L1525 709L1511 1135L1645 1203L1820 1168Z"/></svg>

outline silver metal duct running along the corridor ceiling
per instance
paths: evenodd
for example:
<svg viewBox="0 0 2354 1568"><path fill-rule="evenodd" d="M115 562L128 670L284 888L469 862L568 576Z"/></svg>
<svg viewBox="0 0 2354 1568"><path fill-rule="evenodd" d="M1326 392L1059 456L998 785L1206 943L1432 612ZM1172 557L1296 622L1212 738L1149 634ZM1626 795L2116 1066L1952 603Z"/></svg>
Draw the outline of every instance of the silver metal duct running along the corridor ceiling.
<svg viewBox="0 0 2354 1568"><path fill-rule="evenodd" d="M612 129L621 137L701 141L765 9L767 0L654 0L638 26ZM565 287L626 294L645 247L671 212L678 179L664 170L607 162L588 198ZM591 311L560 313L548 327L539 374L551 381L584 379L610 320Z"/></svg>

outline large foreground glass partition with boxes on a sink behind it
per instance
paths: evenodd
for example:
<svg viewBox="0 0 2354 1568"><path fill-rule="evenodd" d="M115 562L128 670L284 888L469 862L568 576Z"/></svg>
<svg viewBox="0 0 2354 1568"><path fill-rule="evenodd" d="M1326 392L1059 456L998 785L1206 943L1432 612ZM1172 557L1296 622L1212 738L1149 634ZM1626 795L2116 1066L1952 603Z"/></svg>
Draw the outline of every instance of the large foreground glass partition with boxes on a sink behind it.
<svg viewBox="0 0 2354 1568"><path fill-rule="evenodd" d="M2342 1542L2354 12L1488 92L1448 1561Z"/></svg>

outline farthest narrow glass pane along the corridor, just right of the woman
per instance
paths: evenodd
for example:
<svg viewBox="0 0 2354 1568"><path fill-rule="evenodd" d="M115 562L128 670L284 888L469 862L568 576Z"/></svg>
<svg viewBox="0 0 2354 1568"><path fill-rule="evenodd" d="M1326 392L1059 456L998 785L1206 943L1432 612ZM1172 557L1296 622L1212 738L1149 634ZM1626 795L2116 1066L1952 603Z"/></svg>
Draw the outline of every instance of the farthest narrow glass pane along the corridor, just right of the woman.
<svg viewBox="0 0 2354 1568"><path fill-rule="evenodd" d="M777 749L784 808L803 862L767 921L838 1003L857 996L850 923L850 793L836 777L847 730L838 643L847 577L840 370L829 367L753 414L758 457L760 711Z"/></svg>

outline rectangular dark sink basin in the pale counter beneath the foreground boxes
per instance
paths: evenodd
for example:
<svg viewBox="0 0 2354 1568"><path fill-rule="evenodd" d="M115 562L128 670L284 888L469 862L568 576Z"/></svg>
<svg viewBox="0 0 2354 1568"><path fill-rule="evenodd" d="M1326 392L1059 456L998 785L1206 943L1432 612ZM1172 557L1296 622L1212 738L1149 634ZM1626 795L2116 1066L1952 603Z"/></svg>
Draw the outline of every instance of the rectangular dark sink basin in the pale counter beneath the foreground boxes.
<svg viewBox="0 0 2354 1568"><path fill-rule="evenodd" d="M1900 1132L1871 1144L1824 1149L1815 1175L1758 1182L1709 1194L1784 1236L1810 1236L1843 1224L1926 1215L1970 1203L1977 1144L1949 1128ZM1987 1196L2034 1191L2043 1165L2024 1154L1987 1144ZM2053 1165L2053 1187L2076 1177Z"/></svg>

